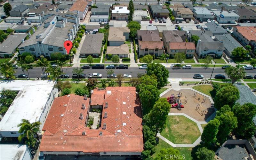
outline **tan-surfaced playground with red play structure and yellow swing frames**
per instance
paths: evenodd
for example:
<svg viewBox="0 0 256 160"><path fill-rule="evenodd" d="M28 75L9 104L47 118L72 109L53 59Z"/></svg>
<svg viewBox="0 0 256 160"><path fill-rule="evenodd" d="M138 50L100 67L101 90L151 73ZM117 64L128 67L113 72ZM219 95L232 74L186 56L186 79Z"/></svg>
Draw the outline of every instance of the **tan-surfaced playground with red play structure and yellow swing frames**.
<svg viewBox="0 0 256 160"><path fill-rule="evenodd" d="M185 113L197 121L205 121L215 111L208 97L192 90L170 90L162 97L172 105L171 113Z"/></svg>

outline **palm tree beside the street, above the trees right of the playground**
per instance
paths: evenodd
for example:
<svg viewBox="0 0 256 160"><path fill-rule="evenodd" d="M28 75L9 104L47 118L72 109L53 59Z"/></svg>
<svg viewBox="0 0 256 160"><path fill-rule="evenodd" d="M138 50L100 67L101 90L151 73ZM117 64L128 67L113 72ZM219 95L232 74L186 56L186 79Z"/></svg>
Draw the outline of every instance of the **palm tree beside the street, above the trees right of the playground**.
<svg viewBox="0 0 256 160"><path fill-rule="evenodd" d="M226 75L231 79L231 83L234 84L238 79L242 79L246 72L244 68L240 64L236 65L236 67L228 67L225 69Z"/></svg>

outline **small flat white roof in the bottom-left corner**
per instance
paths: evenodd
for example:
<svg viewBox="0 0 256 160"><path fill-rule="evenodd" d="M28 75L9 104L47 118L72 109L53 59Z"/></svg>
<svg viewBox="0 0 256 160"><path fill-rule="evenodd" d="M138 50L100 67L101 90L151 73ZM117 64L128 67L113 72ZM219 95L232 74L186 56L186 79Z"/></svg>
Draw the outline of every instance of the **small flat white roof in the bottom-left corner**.
<svg viewBox="0 0 256 160"><path fill-rule="evenodd" d="M20 144L1 144L0 159L14 159L14 160L22 160L27 149L27 145Z"/></svg>

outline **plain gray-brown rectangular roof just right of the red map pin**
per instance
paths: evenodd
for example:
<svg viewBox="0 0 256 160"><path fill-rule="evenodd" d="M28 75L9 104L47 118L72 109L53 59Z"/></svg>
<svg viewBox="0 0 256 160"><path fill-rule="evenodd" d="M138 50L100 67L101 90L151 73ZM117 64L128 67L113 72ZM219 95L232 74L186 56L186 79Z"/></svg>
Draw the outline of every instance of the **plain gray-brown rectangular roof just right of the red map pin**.
<svg viewBox="0 0 256 160"><path fill-rule="evenodd" d="M99 57L104 33L86 35L80 51L81 57Z"/></svg>

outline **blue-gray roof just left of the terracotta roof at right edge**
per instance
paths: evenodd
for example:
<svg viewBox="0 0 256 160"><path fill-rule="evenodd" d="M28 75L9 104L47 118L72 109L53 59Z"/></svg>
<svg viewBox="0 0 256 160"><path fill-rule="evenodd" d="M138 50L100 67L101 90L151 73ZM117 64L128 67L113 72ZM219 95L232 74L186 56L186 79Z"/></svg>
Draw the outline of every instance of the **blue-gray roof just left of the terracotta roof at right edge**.
<svg viewBox="0 0 256 160"><path fill-rule="evenodd" d="M223 35L215 35L215 40L216 41L222 41L225 50L224 52L230 57L232 54L232 51L236 48L236 47L243 47L239 42L236 41L235 38L233 38L233 36L231 36L230 34L223 34ZM244 48L244 47L243 47Z"/></svg>

